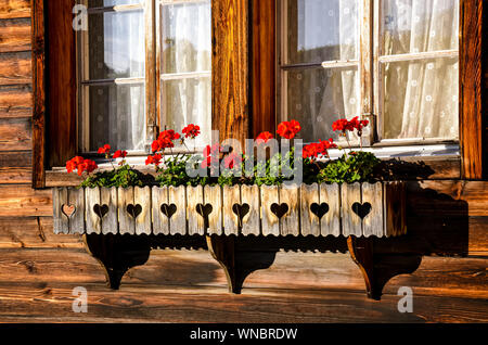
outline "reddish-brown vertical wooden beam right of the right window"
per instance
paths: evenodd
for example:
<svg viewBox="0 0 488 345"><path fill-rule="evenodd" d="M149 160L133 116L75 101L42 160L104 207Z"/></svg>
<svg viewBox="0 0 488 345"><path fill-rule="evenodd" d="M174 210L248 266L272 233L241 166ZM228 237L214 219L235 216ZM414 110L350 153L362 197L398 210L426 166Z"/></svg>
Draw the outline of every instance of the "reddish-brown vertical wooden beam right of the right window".
<svg viewBox="0 0 488 345"><path fill-rule="evenodd" d="M483 119L483 0L463 0L460 43L460 141L462 178L486 177L486 130ZM486 170L486 168L485 168Z"/></svg>

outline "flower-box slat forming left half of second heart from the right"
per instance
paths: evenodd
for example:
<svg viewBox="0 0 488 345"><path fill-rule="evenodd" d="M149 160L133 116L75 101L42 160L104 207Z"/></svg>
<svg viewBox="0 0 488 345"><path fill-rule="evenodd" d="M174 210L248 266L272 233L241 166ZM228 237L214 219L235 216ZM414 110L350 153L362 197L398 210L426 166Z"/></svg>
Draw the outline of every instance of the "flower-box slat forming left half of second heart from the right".
<svg viewBox="0 0 488 345"><path fill-rule="evenodd" d="M320 205L319 184L301 184L300 187L300 227L301 235L320 235L320 218L313 213L313 204Z"/></svg>

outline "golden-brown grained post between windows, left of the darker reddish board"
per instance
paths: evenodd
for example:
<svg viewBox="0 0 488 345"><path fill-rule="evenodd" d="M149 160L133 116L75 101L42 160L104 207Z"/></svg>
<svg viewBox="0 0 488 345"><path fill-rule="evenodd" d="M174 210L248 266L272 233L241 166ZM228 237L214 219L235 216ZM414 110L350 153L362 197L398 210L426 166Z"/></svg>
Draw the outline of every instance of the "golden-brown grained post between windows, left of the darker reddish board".
<svg viewBox="0 0 488 345"><path fill-rule="evenodd" d="M249 0L211 2L211 125L220 140L249 138Z"/></svg>

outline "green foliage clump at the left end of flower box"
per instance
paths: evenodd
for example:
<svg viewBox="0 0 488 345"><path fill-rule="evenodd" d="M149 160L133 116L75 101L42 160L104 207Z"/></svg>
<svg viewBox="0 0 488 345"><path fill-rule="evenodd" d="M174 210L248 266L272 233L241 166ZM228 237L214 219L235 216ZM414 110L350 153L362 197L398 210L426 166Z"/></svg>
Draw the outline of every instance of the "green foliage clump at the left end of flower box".
<svg viewBox="0 0 488 345"><path fill-rule="evenodd" d="M94 188L94 187L133 187L143 186L142 173L132 169L129 165L125 164L119 168L100 171L92 176L89 176L81 187Z"/></svg>

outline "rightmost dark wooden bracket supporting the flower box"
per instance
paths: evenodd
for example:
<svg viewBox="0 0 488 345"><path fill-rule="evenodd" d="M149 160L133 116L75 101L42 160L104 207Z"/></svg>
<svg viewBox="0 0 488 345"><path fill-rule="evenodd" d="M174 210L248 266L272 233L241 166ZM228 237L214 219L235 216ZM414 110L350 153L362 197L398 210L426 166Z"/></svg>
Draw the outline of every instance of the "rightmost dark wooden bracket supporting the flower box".
<svg viewBox="0 0 488 345"><path fill-rule="evenodd" d="M380 301L383 288L395 276L413 273L422 261L421 255L377 254L374 239L349 237L347 246L352 260L359 266L368 298Z"/></svg>

